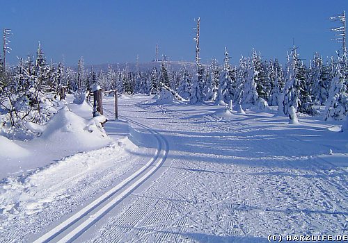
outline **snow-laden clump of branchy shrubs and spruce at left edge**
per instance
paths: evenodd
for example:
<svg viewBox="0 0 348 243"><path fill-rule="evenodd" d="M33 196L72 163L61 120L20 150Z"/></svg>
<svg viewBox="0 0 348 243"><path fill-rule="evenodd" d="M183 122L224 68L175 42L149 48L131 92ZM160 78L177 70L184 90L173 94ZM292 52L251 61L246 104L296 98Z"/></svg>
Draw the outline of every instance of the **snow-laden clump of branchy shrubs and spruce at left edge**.
<svg viewBox="0 0 348 243"><path fill-rule="evenodd" d="M16 71L3 74L5 87L1 89L0 106L7 111L14 128L10 137L17 137L17 131L26 130L26 121L44 124L53 115L52 107L57 106L54 101L56 69L46 64L40 44L37 54L35 65L30 59L23 62L21 58Z"/></svg>

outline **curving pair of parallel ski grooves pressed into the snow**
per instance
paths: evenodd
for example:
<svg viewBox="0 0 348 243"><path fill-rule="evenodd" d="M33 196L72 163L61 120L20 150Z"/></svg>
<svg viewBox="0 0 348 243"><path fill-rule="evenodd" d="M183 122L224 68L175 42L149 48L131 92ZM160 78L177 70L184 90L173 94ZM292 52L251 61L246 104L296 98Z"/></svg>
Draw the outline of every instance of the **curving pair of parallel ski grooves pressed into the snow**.
<svg viewBox="0 0 348 243"><path fill-rule="evenodd" d="M113 115L115 114L111 110L105 110ZM157 140L157 150L155 155L145 165L143 165L143 167L134 172L134 174L127 177L121 183L118 183L118 185L112 187L108 192L102 194L102 196L95 199L92 203L89 203L58 226L52 228L49 232L35 240L34 243L50 242L55 239L58 239L58 242L72 242L76 240L79 235L84 233L88 228L90 228L90 226L93 226L95 222L104 217L107 212L136 190L137 187L144 183L146 179L152 176L152 174L155 174L157 169L163 165L168 156L169 150L168 142L164 137L157 131L148 126L144 126L139 122L132 121L126 117L122 117L122 119L145 128L155 136Z"/></svg>

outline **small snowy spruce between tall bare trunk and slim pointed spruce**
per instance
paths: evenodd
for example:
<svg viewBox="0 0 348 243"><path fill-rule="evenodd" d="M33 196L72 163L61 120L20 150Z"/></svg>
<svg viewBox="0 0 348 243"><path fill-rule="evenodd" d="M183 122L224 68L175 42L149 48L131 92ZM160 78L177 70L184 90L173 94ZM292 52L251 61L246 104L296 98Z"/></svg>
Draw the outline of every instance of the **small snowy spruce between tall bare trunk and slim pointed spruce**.
<svg viewBox="0 0 348 243"><path fill-rule="evenodd" d="M205 86L205 100L216 101L219 90L219 67L217 60L213 59L209 66L209 77L207 78L207 85Z"/></svg>

